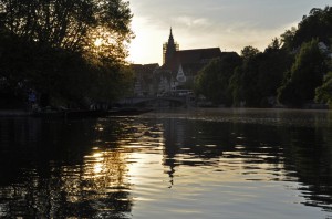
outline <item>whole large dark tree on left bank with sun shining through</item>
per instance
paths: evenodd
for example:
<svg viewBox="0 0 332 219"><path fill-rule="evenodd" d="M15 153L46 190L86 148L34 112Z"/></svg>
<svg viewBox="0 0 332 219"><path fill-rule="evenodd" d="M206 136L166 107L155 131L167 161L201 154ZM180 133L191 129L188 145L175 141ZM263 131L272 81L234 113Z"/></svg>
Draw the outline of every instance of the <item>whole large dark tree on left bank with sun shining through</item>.
<svg viewBox="0 0 332 219"><path fill-rule="evenodd" d="M24 102L29 90L43 105L86 106L125 94L131 20L122 0L1 0L2 106Z"/></svg>

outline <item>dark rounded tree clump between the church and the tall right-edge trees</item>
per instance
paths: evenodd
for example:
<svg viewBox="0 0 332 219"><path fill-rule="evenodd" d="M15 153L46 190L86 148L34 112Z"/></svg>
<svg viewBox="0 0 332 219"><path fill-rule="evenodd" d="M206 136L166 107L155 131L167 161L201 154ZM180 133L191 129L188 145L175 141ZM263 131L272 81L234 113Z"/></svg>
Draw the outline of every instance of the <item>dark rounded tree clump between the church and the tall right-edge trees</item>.
<svg viewBox="0 0 332 219"><path fill-rule="evenodd" d="M283 72L292 55L273 39L264 52L253 46L242 50L242 59L227 56L210 62L196 79L196 91L216 104L268 107L273 105Z"/></svg>

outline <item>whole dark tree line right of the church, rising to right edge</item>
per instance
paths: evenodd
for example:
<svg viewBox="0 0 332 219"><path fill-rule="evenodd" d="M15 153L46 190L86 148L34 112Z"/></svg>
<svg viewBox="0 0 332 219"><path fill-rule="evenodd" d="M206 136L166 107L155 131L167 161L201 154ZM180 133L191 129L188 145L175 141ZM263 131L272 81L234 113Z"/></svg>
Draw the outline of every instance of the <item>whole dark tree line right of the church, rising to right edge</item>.
<svg viewBox="0 0 332 219"><path fill-rule="evenodd" d="M246 46L240 58L228 58L232 62L210 62L198 73L196 92L229 106L303 107L314 100L331 104L331 46L332 8L312 9L263 52Z"/></svg>

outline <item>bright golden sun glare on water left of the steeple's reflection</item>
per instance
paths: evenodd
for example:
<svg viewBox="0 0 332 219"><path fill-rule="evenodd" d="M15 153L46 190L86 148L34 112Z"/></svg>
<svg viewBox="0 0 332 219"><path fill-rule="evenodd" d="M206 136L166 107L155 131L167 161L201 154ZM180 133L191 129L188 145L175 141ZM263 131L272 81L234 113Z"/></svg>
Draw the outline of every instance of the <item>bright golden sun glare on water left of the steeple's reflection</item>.
<svg viewBox="0 0 332 219"><path fill-rule="evenodd" d="M158 184L158 177L164 175L163 125L152 127L135 124L134 121L118 123L122 133L113 140L114 131L110 131L105 123L107 121L100 121L95 125L96 145L84 156L82 165L62 169L63 190L71 202L104 199L114 192L128 192L142 184ZM152 165L154 168L149 168ZM167 176L165 181L169 181ZM127 201L132 199L133 196L117 198Z"/></svg>

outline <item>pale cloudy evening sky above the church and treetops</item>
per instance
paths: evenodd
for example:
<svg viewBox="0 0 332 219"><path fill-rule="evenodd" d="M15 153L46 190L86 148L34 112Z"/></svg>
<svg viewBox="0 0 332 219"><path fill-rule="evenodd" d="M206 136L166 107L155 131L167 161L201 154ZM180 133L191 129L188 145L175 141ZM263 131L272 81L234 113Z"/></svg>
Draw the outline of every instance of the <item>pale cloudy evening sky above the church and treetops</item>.
<svg viewBox="0 0 332 219"><path fill-rule="evenodd" d="M128 62L163 64L163 43L173 29L180 50L220 48L263 51L276 36L297 27L312 8L331 0L129 0L134 14Z"/></svg>

